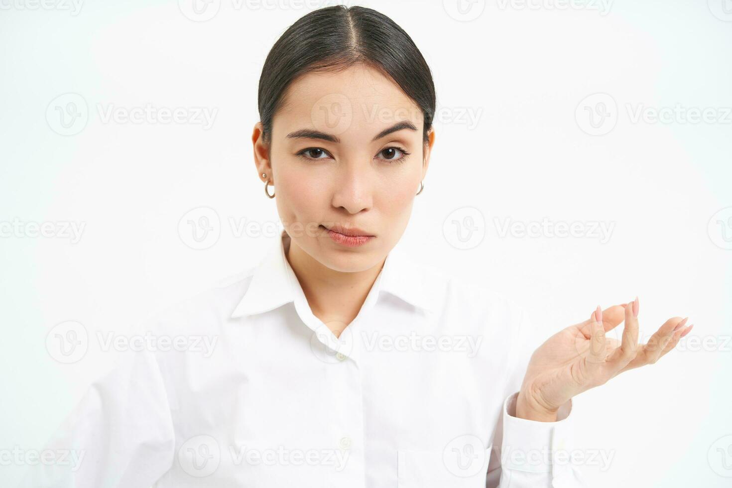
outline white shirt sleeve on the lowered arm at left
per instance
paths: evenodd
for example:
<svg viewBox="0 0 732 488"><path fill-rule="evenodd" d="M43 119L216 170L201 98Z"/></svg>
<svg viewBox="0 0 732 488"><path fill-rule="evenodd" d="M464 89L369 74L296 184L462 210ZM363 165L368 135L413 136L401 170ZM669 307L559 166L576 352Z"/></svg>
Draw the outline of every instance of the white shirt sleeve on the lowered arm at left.
<svg viewBox="0 0 732 488"><path fill-rule="evenodd" d="M19 487L149 488L171 467L173 422L154 353L125 351L89 386L45 450L65 462L32 465Z"/></svg>

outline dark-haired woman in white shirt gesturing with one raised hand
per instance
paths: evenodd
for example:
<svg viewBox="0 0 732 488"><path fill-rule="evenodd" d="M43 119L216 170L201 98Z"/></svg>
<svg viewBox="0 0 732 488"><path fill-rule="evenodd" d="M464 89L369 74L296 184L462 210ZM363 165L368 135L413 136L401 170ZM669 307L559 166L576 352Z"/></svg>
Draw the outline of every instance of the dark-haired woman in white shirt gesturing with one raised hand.
<svg viewBox="0 0 732 488"><path fill-rule="evenodd" d="M691 326L670 318L638 345L636 298L531 354L512 301L411 262L397 242L435 105L421 53L379 12L327 7L285 31L252 136L285 232L154 323L216 347L130 356L54 440L83 459L39 467L32 486L580 486L562 456L572 397L653 364Z"/></svg>

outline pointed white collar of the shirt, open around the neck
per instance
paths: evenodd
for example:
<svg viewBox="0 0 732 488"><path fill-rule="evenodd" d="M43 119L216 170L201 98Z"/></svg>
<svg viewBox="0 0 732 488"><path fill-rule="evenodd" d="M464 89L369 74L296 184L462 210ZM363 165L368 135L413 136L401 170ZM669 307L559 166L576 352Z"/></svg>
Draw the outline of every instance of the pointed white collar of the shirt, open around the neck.
<svg viewBox="0 0 732 488"><path fill-rule="evenodd" d="M289 239L283 230L273 241L272 247L253 269L250 285L231 314L232 318L268 312L293 302L298 291L302 293L302 287L285 256ZM434 311L437 303L430 293L425 271L401 255L397 247L398 244L386 256L373 286L378 287L379 292L390 293L414 307Z"/></svg>

